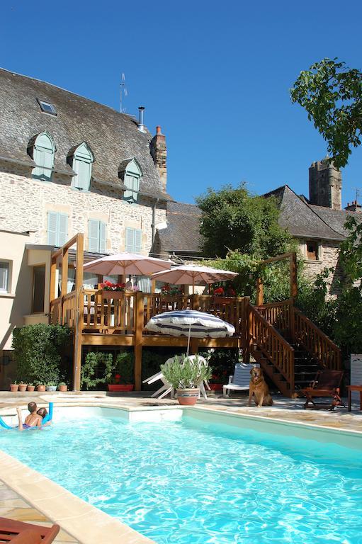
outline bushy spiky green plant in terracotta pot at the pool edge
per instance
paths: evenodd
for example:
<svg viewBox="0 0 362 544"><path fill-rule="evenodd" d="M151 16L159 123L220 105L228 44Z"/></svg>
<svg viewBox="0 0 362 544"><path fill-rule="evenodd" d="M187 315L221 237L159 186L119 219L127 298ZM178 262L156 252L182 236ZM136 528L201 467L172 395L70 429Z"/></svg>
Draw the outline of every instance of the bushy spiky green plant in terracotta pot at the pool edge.
<svg viewBox="0 0 362 544"><path fill-rule="evenodd" d="M179 404L193 406L200 395L200 383L209 380L211 368L198 360L183 355L175 356L167 365L161 365L162 373L168 382L176 389Z"/></svg>

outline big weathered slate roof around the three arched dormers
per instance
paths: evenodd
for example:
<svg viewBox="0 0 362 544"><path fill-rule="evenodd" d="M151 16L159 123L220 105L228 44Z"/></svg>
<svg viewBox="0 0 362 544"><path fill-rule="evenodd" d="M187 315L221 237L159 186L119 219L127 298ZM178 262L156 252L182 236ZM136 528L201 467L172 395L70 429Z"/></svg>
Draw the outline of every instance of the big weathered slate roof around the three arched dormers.
<svg viewBox="0 0 362 544"><path fill-rule="evenodd" d="M57 115L43 113L37 98L52 103ZM140 132L134 118L44 81L0 69L0 157L32 166L28 143L45 130L57 147L55 170L71 176L72 169L67 164L69 149L87 142L94 153L94 181L125 188L118 168L125 159L135 157L143 173L140 193L171 199L164 192L152 160L152 136L147 130Z"/></svg>

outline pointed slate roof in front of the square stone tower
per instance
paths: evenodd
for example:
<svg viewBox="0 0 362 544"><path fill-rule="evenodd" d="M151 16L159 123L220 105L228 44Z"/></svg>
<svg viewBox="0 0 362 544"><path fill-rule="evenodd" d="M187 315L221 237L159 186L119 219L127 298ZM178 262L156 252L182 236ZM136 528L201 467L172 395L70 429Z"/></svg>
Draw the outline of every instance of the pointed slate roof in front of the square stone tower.
<svg viewBox="0 0 362 544"><path fill-rule="evenodd" d="M343 229L334 229L327 214L319 214L320 206L311 206L295 194L288 185L278 187L264 196L275 196L281 207L279 225L295 237L318 238L340 242L344 239ZM326 210L327 208L322 208ZM339 210L329 210L332 216Z"/></svg>

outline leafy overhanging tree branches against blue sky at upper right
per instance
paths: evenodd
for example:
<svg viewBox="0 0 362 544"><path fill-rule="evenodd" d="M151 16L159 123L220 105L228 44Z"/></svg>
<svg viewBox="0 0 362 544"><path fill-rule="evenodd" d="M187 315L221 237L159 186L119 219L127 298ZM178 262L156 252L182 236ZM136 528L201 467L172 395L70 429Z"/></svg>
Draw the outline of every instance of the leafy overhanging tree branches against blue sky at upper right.
<svg viewBox="0 0 362 544"><path fill-rule="evenodd" d="M334 166L346 166L352 147L361 144L362 72L337 59L323 59L300 72L290 96L328 144Z"/></svg>

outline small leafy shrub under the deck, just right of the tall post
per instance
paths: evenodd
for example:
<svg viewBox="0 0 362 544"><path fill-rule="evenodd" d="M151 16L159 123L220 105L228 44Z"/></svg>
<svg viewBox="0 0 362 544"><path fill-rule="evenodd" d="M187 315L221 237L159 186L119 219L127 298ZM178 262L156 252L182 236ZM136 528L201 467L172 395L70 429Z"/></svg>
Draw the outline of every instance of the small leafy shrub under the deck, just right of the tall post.
<svg viewBox="0 0 362 544"><path fill-rule="evenodd" d="M101 371L99 372L101 367ZM101 383L109 382L115 363L112 353L95 353L90 351L86 354L84 363L81 365L81 388L87 391L95 389Z"/></svg>

